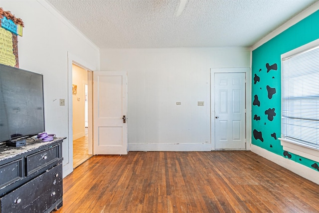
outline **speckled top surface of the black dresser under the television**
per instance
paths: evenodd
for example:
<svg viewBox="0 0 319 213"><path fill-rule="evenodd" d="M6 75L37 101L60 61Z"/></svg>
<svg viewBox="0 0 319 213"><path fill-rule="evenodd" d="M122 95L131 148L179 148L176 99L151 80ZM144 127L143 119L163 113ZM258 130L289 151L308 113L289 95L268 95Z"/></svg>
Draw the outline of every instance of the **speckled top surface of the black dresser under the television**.
<svg viewBox="0 0 319 213"><path fill-rule="evenodd" d="M37 148L40 148L42 146L47 146L50 144L53 144L57 141L63 140L65 138L63 137L54 137L53 141L49 142L42 142L41 140L34 139L34 138L27 138L26 139L26 145L21 147L10 147L6 145L0 146L0 161L13 158L17 155L20 155L22 153L30 152L32 150L35 150Z"/></svg>

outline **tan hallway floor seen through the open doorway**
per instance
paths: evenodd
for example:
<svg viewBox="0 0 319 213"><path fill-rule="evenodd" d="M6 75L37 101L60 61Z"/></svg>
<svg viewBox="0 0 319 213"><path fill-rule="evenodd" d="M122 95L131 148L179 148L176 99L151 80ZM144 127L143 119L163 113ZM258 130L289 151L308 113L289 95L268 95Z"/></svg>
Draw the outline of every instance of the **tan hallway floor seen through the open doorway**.
<svg viewBox="0 0 319 213"><path fill-rule="evenodd" d="M73 168L92 157L88 154L88 140L88 131L85 128L85 136L73 141Z"/></svg>

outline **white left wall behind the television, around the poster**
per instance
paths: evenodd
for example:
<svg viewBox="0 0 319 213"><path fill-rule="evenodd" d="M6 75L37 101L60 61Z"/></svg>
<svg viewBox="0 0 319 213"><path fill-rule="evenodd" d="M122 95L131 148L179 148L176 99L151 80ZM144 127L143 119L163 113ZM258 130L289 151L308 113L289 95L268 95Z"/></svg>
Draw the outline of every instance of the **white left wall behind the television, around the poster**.
<svg viewBox="0 0 319 213"><path fill-rule="evenodd" d="M20 17L25 27L18 36L20 68L44 75L45 129L63 142L63 176L73 170L72 134L68 108L72 104L68 55L99 67L99 49L80 34L44 0L0 0L3 10ZM65 99L65 106L59 106ZM72 122L71 122L72 124Z"/></svg>

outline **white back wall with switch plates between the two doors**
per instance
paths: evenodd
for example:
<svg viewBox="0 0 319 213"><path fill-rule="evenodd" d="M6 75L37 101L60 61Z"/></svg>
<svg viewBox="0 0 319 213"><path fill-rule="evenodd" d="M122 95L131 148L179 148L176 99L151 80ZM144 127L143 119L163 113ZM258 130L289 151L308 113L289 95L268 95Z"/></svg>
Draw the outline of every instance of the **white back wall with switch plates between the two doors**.
<svg viewBox="0 0 319 213"><path fill-rule="evenodd" d="M249 48L100 52L101 70L128 72L129 151L211 150L210 68L250 67Z"/></svg>

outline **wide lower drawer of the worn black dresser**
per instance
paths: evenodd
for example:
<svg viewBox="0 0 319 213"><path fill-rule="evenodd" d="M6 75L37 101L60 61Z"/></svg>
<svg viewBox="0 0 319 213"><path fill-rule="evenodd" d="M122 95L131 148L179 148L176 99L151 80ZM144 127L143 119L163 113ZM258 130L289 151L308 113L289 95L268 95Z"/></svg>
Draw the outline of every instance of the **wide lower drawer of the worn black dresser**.
<svg viewBox="0 0 319 213"><path fill-rule="evenodd" d="M59 164L42 175L32 179L28 183L22 185L18 189L3 196L0 199L0 212L2 213L18 213L25 212L27 206L32 204L38 198L45 195L47 191L55 192L56 189L62 188L62 164ZM61 191L61 192L59 192ZM59 195L62 190L55 192ZM62 195L62 194L61 194ZM49 196L51 197L51 196ZM53 202L54 203L54 202Z"/></svg>

